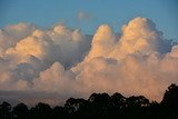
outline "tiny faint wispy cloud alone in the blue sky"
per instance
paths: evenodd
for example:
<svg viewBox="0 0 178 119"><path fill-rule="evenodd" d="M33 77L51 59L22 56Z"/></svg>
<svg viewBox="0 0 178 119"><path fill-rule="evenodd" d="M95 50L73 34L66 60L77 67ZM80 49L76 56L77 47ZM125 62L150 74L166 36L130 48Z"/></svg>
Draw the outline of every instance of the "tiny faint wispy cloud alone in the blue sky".
<svg viewBox="0 0 178 119"><path fill-rule="evenodd" d="M77 13L77 19L78 20L92 20L93 19L93 14L88 13L88 12L83 12L83 11L79 11Z"/></svg>

